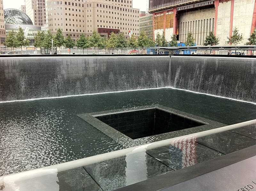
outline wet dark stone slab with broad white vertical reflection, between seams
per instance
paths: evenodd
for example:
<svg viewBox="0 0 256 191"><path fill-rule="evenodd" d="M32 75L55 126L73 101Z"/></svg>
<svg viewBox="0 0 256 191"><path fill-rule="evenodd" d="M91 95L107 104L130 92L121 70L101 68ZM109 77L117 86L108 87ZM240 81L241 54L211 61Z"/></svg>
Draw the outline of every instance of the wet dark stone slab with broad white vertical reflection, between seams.
<svg viewBox="0 0 256 191"><path fill-rule="evenodd" d="M172 171L145 151L90 164L84 168L104 191L115 190Z"/></svg>

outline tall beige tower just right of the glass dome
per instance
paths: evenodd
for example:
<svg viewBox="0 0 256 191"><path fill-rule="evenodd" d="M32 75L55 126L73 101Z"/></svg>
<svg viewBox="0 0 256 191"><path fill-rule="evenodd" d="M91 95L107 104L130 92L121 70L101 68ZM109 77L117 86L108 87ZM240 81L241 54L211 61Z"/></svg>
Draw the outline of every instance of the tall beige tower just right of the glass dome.
<svg viewBox="0 0 256 191"><path fill-rule="evenodd" d="M44 27L46 23L45 0L26 0L26 14L35 26Z"/></svg>

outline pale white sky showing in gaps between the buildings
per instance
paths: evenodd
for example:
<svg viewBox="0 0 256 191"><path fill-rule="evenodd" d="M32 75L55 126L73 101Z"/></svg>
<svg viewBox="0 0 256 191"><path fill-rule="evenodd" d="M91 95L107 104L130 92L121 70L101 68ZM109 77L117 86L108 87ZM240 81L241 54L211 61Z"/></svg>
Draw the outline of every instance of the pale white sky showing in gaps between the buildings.
<svg viewBox="0 0 256 191"><path fill-rule="evenodd" d="M146 11L147 0L133 0L133 8L140 9L140 11ZM24 0L4 0L4 9L20 9L20 5L24 5Z"/></svg>

